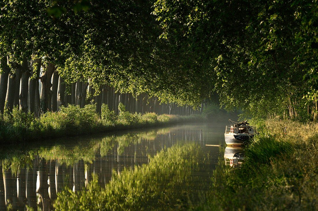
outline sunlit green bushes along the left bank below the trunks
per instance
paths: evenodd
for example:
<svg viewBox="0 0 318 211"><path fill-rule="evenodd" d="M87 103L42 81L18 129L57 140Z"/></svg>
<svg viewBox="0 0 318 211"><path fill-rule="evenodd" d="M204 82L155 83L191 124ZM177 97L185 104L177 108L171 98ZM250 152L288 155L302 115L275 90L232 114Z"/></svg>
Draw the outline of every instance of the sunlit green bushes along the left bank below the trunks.
<svg viewBox="0 0 318 211"><path fill-rule="evenodd" d="M59 112L47 112L39 118L33 113L24 113L18 108L12 112L5 111L0 118L0 142L12 143L40 138L54 138L92 134L120 129L150 127L173 124L177 122L200 121L201 115L157 115L155 113L130 113L120 103L119 114L103 104L101 115L97 114L96 105L89 104L84 108L78 105L61 107Z"/></svg>

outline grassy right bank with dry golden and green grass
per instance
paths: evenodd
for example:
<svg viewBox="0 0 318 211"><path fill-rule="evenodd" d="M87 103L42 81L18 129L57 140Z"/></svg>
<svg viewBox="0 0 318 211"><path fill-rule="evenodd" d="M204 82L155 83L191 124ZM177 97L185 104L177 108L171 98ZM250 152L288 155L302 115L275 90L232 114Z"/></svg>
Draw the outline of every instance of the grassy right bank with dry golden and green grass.
<svg viewBox="0 0 318 211"><path fill-rule="evenodd" d="M220 159L197 209L317 210L318 124L266 120L257 126L243 164L231 168Z"/></svg>

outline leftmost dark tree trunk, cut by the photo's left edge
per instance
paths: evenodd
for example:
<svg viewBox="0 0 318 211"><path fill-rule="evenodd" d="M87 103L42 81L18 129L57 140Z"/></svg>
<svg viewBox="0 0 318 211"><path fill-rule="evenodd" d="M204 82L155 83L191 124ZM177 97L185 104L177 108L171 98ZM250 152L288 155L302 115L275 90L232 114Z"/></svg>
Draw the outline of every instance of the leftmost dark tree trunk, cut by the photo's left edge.
<svg viewBox="0 0 318 211"><path fill-rule="evenodd" d="M0 112L3 114L4 110L4 103L5 103L5 98L7 95L7 88L8 88L8 78L9 78L9 73L10 73L10 68L8 67L8 62L7 60L9 57L1 58L0 60L0 66L3 68L3 73L0 75Z"/></svg>

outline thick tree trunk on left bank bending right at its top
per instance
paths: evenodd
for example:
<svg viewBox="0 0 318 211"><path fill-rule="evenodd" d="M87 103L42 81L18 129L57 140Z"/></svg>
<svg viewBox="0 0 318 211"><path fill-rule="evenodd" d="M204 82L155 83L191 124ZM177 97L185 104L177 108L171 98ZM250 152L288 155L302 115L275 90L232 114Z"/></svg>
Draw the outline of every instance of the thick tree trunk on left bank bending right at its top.
<svg viewBox="0 0 318 211"><path fill-rule="evenodd" d="M52 83L51 78L53 75L53 72L56 70L54 64L49 62L46 66L45 72L40 77L42 82L42 88L41 88L41 100L43 100L43 108L42 112L45 113L49 109L49 102L52 98Z"/></svg>

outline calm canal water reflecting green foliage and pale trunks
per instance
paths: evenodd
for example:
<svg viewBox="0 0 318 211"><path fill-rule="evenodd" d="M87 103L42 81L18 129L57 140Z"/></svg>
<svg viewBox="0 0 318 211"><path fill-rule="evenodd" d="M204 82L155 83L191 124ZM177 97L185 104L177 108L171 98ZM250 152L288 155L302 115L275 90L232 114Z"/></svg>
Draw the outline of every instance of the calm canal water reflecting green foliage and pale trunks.
<svg viewBox="0 0 318 211"><path fill-rule="evenodd" d="M184 123L7 146L0 151L0 210L189 208L224 161L225 124Z"/></svg>

